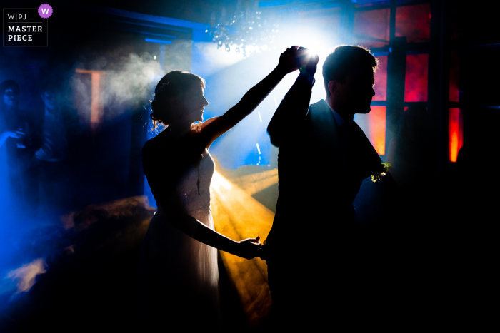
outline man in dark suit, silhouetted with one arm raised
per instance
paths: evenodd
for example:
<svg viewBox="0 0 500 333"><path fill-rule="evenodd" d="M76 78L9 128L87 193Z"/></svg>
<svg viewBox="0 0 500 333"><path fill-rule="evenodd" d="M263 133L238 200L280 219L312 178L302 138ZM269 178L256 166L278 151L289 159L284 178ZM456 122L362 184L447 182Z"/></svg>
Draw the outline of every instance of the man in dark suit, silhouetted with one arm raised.
<svg viewBox="0 0 500 333"><path fill-rule="evenodd" d="M360 314L367 238L354 224L352 203L362 180L382 172L353 121L370 112L376 58L359 46L337 47L323 66L326 98L309 106L316 63L313 57L301 68L267 128L279 147L279 198L266 262L274 317L290 329Z"/></svg>

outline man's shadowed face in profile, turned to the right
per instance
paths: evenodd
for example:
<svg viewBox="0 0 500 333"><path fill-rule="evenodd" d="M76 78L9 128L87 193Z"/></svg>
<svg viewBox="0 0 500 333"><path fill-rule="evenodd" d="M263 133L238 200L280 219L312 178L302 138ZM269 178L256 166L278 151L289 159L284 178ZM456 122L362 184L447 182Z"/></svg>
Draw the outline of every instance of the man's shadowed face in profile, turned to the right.
<svg viewBox="0 0 500 333"><path fill-rule="evenodd" d="M337 83L337 101L354 113L369 113L371 98L375 96L373 87L373 69L371 67L360 68L348 75L345 83Z"/></svg>

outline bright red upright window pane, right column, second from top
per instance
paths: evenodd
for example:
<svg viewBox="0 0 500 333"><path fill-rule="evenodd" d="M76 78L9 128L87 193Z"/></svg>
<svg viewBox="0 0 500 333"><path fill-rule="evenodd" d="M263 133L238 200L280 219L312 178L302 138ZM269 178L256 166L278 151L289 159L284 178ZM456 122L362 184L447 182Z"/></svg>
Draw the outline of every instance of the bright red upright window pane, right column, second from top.
<svg viewBox="0 0 500 333"><path fill-rule="evenodd" d="M404 101L427 101L428 66L429 54L410 54L406 56Z"/></svg>

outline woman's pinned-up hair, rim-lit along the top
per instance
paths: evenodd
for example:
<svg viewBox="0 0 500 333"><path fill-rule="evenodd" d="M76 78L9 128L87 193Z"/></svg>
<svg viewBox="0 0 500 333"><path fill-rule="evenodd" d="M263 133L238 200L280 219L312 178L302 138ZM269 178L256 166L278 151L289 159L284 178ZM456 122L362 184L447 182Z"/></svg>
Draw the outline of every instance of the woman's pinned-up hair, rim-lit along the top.
<svg viewBox="0 0 500 333"><path fill-rule="evenodd" d="M171 110L170 98L182 96L192 86L199 84L205 88L203 78L185 71L171 71L166 74L154 89L154 99L151 101L151 119L154 127L158 123L169 125L176 110Z"/></svg>

